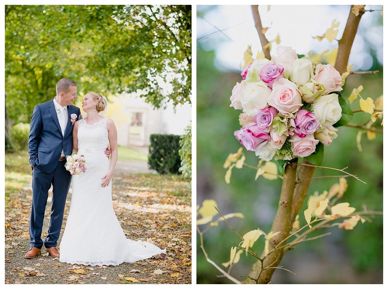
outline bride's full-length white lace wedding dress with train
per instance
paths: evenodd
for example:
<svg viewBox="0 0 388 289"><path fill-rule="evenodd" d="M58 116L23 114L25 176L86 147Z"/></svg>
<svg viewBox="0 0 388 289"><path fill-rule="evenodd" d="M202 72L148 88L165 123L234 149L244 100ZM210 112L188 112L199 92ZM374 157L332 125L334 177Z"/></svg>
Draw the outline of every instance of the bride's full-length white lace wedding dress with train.
<svg viewBox="0 0 388 289"><path fill-rule="evenodd" d="M165 253L154 244L127 239L112 205L112 182L102 188L101 177L109 170L104 151L108 145L107 118L89 125L80 120L79 153L87 169L72 178L72 197L62 241L60 261L90 266L136 262Z"/></svg>

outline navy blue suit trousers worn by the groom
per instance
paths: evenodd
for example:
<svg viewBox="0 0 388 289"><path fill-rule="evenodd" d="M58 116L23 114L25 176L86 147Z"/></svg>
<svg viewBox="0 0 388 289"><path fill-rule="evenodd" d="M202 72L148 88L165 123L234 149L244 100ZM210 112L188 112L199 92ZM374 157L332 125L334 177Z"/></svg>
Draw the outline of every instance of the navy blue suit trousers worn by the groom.
<svg viewBox="0 0 388 289"><path fill-rule="evenodd" d="M44 241L46 248L56 247L65 211L67 193L70 188L71 174L65 169L66 161L58 161L57 167L45 173L37 166L32 170L32 209L30 220L30 246L42 248L41 239L43 219L52 185L51 215L49 234Z"/></svg>

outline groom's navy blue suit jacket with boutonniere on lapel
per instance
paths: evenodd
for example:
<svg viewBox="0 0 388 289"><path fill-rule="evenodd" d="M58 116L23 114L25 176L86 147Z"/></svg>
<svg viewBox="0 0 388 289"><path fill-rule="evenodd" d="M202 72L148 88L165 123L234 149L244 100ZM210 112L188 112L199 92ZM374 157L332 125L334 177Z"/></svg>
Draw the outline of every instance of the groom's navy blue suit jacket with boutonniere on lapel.
<svg viewBox="0 0 388 289"><path fill-rule="evenodd" d="M28 153L31 166L35 164L41 171L52 172L58 165L62 150L69 155L73 149L73 125L71 114L82 119L81 110L77 106L67 106L67 125L64 136L59 125L54 101L50 100L34 107L31 116Z"/></svg>

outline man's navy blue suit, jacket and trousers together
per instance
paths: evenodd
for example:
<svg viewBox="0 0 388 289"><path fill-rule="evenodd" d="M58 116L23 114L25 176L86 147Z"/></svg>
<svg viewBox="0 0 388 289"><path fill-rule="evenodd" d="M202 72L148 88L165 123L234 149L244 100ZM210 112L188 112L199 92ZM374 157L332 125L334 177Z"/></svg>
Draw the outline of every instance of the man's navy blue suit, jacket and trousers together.
<svg viewBox="0 0 388 289"><path fill-rule="evenodd" d="M69 155L73 149L73 125L70 115L82 118L77 106L67 106L68 120L64 136L58 121L54 101L37 105L31 116L28 153L32 168L32 209L30 220L30 246L42 248L41 239L43 218L49 196L53 187L49 235L45 247L56 247L61 232L67 193L70 188L71 174L65 169L66 161L59 161L62 150Z"/></svg>

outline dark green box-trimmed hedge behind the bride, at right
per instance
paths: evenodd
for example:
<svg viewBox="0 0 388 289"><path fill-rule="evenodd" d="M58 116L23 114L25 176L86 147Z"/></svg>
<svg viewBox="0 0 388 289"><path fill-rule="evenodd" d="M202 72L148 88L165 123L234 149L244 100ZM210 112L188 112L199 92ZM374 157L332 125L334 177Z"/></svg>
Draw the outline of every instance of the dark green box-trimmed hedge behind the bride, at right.
<svg viewBox="0 0 388 289"><path fill-rule="evenodd" d="M180 167L180 136L152 134L149 138L149 167L160 174L178 174Z"/></svg>

